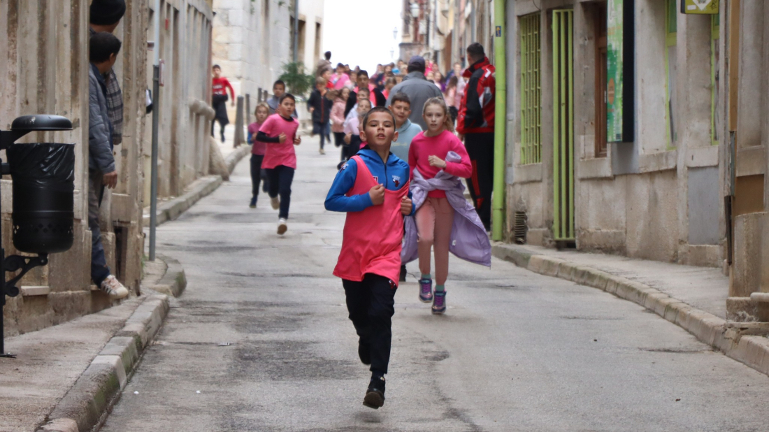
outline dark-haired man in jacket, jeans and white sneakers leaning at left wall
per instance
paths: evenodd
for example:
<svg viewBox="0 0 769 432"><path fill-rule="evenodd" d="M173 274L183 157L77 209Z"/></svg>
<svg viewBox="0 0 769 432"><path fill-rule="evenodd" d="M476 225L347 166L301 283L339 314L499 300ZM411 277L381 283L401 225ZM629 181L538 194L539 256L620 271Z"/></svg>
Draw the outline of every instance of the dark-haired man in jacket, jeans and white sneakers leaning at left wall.
<svg viewBox="0 0 769 432"><path fill-rule="evenodd" d="M91 278L111 298L123 298L128 290L107 267L99 206L105 187L115 188L118 171L112 155L114 136L108 110L108 88L121 43L115 35L99 32L89 43L91 65L88 68L88 228L91 228ZM105 80L105 76L107 77Z"/></svg>

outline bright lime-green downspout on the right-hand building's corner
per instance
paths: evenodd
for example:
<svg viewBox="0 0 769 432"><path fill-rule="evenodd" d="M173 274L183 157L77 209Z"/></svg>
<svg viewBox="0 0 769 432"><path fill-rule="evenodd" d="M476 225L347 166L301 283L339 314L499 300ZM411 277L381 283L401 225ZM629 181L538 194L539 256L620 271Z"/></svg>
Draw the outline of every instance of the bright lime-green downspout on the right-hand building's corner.
<svg viewBox="0 0 769 432"><path fill-rule="evenodd" d="M504 224L504 196L507 194L504 184L504 126L508 118L506 105L508 101L508 83L504 56L504 0L494 0L494 68L497 94L494 97L494 200L492 201L491 239L502 240L502 225Z"/></svg>

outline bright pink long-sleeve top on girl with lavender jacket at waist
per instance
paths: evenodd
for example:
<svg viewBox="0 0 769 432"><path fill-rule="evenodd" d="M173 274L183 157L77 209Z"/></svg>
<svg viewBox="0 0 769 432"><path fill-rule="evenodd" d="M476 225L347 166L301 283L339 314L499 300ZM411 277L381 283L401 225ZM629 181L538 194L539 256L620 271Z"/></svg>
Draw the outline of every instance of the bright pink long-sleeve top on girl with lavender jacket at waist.
<svg viewBox="0 0 769 432"><path fill-rule="evenodd" d="M411 178L414 177L414 168L418 168L422 177L434 178L435 174L441 171L441 168L431 166L428 158L434 155L445 161L449 151L454 151L462 160L459 162L446 162L444 171L457 177L470 178L473 174L473 166L470 163L468 151L465 150L462 141L459 141L457 135L452 134L450 131L443 131L434 137L426 137L424 132L420 132L411 140L411 147L408 148L408 166L411 168ZM440 190L430 191L428 192L428 197L446 198L446 192Z"/></svg>

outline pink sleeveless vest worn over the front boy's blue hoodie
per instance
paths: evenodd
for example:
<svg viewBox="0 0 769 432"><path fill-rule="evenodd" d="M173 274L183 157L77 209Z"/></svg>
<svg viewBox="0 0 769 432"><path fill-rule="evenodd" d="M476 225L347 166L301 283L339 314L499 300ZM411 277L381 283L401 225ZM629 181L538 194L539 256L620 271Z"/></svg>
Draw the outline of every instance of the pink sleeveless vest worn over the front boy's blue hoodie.
<svg viewBox="0 0 769 432"><path fill-rule="evenodd" d="M368 194L377 181L360 156L352 158L358 165L358 176L347 196ZM401 199L405 196L408 181L398 191L385 190L383 204L347 214L336 277L360 282L367 273L378 274L398 286L403 241Z"/></svg>

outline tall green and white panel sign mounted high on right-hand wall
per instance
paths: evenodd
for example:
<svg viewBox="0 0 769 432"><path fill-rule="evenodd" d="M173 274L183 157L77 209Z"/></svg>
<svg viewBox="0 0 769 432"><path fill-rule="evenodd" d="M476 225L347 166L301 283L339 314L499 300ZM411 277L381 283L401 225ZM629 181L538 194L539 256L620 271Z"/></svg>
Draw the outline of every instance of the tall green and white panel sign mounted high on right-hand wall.
<svg viewBox="0 0 769 432"><path fill-rule="evenodd" d="M634 138L634 0L608 0L606 138Z"/></svg>

